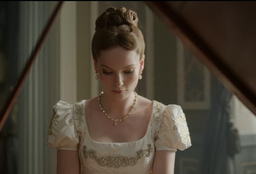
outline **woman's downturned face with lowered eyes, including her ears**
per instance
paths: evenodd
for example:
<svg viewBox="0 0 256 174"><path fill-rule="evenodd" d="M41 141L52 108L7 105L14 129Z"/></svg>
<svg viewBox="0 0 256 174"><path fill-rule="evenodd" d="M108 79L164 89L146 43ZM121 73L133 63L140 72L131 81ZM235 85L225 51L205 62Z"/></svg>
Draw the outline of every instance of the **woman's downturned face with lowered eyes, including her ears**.
<svg viewBox="0 0 256 174"><path fill-rule="evenodd" d="M119 101L133 92L143 67L144 56L140 60L136 51L126 50L120 46L101 51L97 62L94 61L104 95Z"/></svg>

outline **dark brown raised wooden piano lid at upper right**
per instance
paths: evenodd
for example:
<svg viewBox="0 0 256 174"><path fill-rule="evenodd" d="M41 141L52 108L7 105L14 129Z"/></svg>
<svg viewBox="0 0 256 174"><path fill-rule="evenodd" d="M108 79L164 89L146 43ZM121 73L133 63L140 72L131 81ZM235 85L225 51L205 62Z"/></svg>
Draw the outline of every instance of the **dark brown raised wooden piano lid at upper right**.
<svg viewBox="0 0 256 174"><path fill-rule="evenodd" d="M256 2L146 3L256 115Z"/></svg>

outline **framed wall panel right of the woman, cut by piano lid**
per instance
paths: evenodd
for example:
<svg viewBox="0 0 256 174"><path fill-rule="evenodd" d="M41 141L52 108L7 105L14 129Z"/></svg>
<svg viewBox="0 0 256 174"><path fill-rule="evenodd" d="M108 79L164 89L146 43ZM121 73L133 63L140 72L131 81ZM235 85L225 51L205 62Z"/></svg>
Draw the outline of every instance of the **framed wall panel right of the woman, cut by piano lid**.
<svg viewBox="0 0 256 174"><path fill-rule="evenodd" d="M209 109L210 73L197 58L176 39L177 102L184 109Z"/></svg>

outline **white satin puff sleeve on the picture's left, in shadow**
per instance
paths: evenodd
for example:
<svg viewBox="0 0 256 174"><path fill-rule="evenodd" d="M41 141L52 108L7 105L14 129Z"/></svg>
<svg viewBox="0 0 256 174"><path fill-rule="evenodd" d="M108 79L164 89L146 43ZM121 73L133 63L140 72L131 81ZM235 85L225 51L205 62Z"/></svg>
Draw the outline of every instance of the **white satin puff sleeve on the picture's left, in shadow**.
<svg viewBox="0 0 256 174"><path fill-rule="evenodd" d="M57 150L78 150L79 137L74 124L72 104L59 101L53 107L48 128L47 145Z"/></svg>

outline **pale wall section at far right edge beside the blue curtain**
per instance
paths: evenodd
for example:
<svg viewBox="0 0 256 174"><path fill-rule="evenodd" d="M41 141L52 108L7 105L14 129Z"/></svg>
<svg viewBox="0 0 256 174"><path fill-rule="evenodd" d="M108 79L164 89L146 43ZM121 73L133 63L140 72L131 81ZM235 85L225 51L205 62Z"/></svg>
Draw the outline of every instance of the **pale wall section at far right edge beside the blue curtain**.
<svg viewBox="0 0 256 174"><path fill-rule="evenodd" d="M230 101L242 151L235 156L236 173L256 173L256 117L236 96Z"/></svg>

